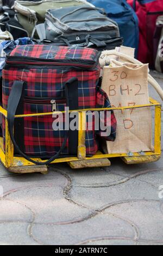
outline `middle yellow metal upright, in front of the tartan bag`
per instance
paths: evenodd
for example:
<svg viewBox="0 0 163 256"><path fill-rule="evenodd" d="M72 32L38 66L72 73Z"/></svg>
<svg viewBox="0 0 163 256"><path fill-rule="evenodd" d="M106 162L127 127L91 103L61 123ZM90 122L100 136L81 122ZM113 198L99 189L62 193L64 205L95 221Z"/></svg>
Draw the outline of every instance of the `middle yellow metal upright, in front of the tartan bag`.
<svg viewBox="0 0 163 256"><path fill-rule="evenodd" d="M79 112L78 127L78 159L85 159L85 130L86 130L86 112Z"/></svg>

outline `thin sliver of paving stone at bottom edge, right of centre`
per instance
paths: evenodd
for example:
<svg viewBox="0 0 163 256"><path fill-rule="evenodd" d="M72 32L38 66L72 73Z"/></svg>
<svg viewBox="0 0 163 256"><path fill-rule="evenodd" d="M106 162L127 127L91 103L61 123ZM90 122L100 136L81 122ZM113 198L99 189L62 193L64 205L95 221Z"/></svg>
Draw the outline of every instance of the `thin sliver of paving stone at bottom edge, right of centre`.
<svg viewBox="0 0 163 256"><path fill-rule="evenodd" d="M83 245L135 245L134 241L122 239L103 239L83 243Z"/></svg>

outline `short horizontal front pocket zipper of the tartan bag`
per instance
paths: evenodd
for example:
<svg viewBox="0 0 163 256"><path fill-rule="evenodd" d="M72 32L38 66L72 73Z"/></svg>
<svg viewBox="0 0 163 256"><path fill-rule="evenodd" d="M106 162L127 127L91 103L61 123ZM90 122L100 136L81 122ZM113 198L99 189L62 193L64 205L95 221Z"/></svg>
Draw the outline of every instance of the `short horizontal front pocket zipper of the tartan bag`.
<svg viewBox="0 0 163 256"><path fill-rule="evenodd" d="M66 103L65 98L60 99L49 99L49 98L38 98L38 97L24 97L24 102L34 105L50 105L52 104L52 112L57 111L58 103Z"/></svg>

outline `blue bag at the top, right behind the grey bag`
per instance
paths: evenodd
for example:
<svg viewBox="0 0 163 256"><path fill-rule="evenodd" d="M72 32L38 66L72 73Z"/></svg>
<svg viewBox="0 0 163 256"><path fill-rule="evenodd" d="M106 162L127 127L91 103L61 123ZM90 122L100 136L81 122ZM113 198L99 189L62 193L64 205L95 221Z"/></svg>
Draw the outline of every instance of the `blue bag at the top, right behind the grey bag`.
<svg viewBox="0 0 163 256"><path fill-rule="evenodd" d="M87 0L95 7L103 8L107 16L116 21L123 37L124 46L136 48L139 46L139 26L135 11L126 0Z"/></svg>

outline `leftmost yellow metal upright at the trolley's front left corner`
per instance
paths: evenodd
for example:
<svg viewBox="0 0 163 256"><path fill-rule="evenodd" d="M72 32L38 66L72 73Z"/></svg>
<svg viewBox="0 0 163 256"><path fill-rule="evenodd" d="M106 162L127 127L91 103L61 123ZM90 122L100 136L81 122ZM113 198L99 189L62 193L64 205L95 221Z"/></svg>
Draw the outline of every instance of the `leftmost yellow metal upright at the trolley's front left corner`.
<svg viewBox="0 0 163 256"><path fill-rule="evenodd" d="M14 146L11 142L8 129L8 121L5 118L5 167L9 168L14 164Z"/></svg>

